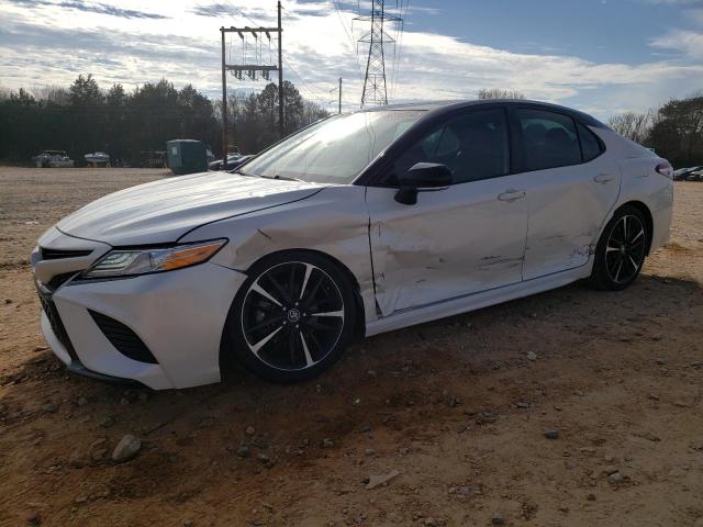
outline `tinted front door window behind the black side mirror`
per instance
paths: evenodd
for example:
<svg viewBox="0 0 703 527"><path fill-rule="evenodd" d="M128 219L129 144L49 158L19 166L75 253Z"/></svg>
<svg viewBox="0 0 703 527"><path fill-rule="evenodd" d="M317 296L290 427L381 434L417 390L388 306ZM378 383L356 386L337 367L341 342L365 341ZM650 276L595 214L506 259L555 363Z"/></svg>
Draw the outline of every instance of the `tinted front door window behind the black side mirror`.
<svg viewBox="0 0 703 527"><path fill-rule="evenodd" d="M478 110L431 131L395 160L394 177L417 162L446 165L454 173L455 184L507 175L510 143L505 112Z"/></svg>

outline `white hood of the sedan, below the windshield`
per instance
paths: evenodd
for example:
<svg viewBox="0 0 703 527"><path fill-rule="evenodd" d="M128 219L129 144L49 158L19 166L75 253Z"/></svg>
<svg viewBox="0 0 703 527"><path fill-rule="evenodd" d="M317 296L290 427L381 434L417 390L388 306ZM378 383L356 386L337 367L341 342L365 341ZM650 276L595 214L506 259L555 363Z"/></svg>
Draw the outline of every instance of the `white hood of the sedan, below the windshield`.
<svg viewBox="0 0 703 527"><path fill-rule="evenodd" d="M56 227L112 246L167 244L205 223L304 200L323 187L227 172L172 177L105 195Z"/></svg>

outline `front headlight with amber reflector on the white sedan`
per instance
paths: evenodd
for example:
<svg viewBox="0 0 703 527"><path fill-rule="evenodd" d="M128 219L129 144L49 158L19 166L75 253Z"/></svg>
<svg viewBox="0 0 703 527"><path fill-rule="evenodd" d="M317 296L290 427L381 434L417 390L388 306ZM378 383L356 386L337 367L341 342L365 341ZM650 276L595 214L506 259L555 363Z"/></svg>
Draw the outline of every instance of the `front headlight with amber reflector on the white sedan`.
<svg viewBox="0 0 703 527"><path fill-rule="evenodd" d="M208 261L226 243L223 238L168 248L115 249L100 258L81 278L126 277L181 269Z"/></svg>

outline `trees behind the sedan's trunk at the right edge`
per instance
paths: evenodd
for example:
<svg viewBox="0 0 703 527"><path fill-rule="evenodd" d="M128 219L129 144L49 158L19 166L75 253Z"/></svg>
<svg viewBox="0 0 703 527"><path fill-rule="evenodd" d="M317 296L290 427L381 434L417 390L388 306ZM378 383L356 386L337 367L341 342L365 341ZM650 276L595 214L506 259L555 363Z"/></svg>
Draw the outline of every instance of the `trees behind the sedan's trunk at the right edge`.
<svg viewBox="0 0 703 527"><path fill-rule="evenodd" d="M609 125L652 148L676 168L703 165L703 92L672 99L657 110L615 115Z"/></svg>

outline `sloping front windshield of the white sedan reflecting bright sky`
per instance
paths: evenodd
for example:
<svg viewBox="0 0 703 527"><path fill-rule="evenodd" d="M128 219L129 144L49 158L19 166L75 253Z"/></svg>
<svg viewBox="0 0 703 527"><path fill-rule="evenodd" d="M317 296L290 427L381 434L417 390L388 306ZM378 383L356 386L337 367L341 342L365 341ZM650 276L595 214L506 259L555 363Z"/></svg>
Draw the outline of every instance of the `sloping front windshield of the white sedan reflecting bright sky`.
<svg viewBox="0 0 703 527"><path fill-rule="evenodd" d="M266 178L347 184L423 113L382 110L327 119L265 152L243 171Z"/></svg>

